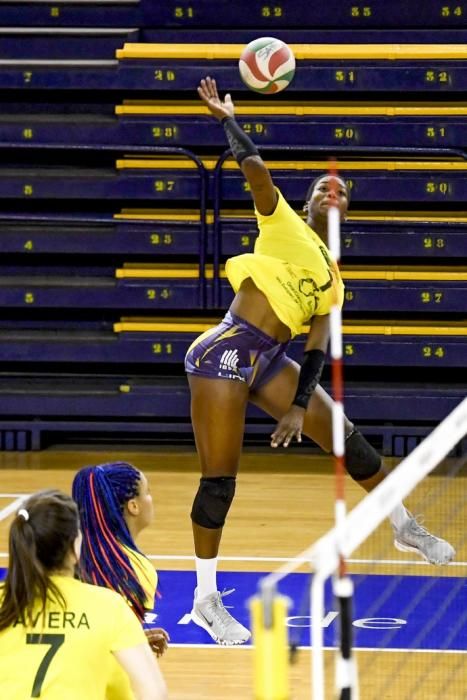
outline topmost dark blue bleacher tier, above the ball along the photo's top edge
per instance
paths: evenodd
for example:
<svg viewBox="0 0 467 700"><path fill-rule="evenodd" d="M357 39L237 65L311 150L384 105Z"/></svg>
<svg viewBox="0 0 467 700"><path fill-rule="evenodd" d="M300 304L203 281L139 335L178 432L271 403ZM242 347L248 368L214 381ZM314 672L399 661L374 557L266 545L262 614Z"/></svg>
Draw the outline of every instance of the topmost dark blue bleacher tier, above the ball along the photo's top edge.
<svg viewBox="0 0 467 700"><path fill-rule="evenodd" d="M234 5L229 0L95 0L77 3L9 2L2 3L0 23L24 26L124 26L136 23L149 27L254 27L273 30L302 27L307 6L294 0L242 0ZM123 24L122 24L123 23ZM462 28L466 12L462 3L433 0L420 7L405 0L332 0L319 7L310 21L314 27L347 30L368 28Z"/></svg>

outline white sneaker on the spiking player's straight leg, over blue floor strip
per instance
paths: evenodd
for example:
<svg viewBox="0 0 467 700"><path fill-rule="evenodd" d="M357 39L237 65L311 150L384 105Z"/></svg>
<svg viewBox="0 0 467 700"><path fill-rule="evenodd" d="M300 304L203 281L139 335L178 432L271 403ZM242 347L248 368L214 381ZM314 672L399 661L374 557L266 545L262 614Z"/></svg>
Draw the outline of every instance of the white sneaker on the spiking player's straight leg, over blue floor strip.
<svg viewBox="0 0 467 700"><path fill-rule="evenodd" d="M211 593L198 600L195 590L191 619L196 625L202 627L218 644L231 646L243 644L251 637L251 632L241 625L225 609L222 596L225 594Z"/></svg>

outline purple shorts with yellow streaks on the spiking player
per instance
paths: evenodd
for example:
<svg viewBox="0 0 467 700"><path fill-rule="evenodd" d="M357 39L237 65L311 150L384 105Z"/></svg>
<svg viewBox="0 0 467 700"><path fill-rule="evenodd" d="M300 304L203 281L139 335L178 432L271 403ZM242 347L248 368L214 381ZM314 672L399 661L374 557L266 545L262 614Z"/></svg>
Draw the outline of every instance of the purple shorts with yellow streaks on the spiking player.
<svg viewBox="0 0 467 700"><path fill-rule="evenodd" d="M218 326L192 343L185 370L198 377L236 379L257 389L291 362L285 354L288 344L228 311Z"/></svg>

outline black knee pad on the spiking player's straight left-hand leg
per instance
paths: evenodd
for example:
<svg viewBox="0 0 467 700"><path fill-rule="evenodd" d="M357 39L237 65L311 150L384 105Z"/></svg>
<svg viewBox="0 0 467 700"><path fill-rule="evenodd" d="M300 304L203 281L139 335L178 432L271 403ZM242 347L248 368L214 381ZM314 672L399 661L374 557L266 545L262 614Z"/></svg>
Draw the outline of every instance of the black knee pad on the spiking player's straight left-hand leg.
<svg viewBox="0 0 467 700"><path fill-rule="evenodd" d="M191 510L193 522L211 530L223 527L235 494L235 483L234 476L202 477Z"/></svg>

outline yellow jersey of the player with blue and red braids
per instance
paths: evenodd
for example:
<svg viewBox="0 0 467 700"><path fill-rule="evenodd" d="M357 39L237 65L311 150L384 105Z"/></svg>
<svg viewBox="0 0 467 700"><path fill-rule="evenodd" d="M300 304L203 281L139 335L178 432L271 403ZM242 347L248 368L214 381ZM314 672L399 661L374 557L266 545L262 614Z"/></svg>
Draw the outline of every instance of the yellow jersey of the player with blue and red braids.
<svg viewBox="0 0 467 700"><path fill-rule="evenodd" d="M146 593L145 607L148 611L152 611L157 588L157 572L144 555L128 547L123 547L123 549ZM137 619L136 615L135 619ZM111 660L111 667L111 675L105 691L106 700L134 700L130 679L116 659Z"/></svg>

